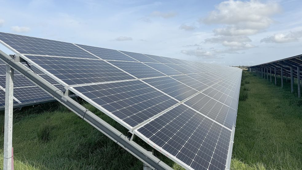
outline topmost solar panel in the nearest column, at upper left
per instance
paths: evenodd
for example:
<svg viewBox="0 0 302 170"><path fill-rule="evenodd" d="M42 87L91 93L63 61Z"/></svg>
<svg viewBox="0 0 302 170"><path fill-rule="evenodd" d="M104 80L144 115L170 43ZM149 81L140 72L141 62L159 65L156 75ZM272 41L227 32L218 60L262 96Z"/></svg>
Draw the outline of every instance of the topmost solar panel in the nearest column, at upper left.
<svg viewBox="0 0 302 170"><path fill-rule="evenodd" d="M0 32L0 40L24 54L53 55L79 58L97 58L76 45L67 42L34 38Z"/></svg>

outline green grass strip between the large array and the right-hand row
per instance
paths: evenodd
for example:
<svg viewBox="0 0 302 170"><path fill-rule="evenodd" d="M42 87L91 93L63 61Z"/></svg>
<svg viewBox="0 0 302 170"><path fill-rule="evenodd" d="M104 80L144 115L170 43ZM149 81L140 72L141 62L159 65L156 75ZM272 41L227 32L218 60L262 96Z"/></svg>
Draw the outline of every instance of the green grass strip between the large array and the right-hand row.
<svg viewBox="0 0 302 170"><path fill-rule="evenodd" d="M301 169L302 100L290 93L289 81L281 89L250 73L242 79L250 82L241 86L249 97L238 104L231 168Z"/></svg>

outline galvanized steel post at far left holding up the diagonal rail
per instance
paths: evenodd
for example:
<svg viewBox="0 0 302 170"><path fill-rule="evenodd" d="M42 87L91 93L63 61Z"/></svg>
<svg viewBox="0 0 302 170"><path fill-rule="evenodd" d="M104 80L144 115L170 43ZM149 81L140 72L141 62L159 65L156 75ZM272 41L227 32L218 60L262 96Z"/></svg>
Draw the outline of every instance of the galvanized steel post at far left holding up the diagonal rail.
<svg viewBox="0 0 302 170"><path fill-rule="evenodd" d="M14 69L6 65L3 170L14 169L13 158L13 102Z"/></svg>

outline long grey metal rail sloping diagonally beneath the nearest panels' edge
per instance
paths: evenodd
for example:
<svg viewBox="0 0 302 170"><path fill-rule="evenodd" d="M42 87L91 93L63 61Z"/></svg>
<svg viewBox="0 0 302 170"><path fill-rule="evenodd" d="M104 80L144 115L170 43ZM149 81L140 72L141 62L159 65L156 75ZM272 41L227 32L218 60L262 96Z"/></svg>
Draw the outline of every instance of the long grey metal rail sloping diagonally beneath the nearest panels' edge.
<svg viewBox="0 0 302 170"><path fill-rule="evenodd" d="M95 114L84 108L82 105L74 101L69 96L64 96L64 93L62 93L55 86L51 85L49 82L37 76L37 74L33 73L31 69L25 67L22 63L18 62L20 60L15 61L9 55L2 52L1 50L0 50L0 59L4 61L6 64L8 64L14 70L24 75L27 79L32 81L38 87L43 89L54 99L65 105L68 109L70 109L78 116L83 118L90 125L97 128L100 132L104 133L111 140L113 140L121 147L126 149L133 156L141 160L143 163L147 164L152 169L172 170L170 166L168 166L163 161L159 160L157 157L152 155L151 152L148 152L146 149L142 148L141 146L139 146L139 144L135 143L134 141L128 140L127 136L125 136L122 132L118 131L116 128L109 125L100 117L97 117Z"/></svg>

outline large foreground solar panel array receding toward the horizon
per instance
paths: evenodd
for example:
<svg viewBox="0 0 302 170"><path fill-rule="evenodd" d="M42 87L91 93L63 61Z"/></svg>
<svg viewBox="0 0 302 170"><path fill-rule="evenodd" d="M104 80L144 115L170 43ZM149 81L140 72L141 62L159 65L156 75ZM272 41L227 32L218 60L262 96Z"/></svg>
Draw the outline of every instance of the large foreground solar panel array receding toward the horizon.
<svg viewBox="0 0 302 170"><path fill-rule="evenodd" d="M0 40L184 168L226 168L241 69L7 33Z"/></svg>

